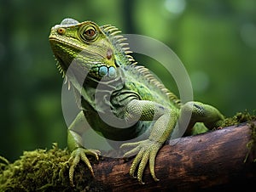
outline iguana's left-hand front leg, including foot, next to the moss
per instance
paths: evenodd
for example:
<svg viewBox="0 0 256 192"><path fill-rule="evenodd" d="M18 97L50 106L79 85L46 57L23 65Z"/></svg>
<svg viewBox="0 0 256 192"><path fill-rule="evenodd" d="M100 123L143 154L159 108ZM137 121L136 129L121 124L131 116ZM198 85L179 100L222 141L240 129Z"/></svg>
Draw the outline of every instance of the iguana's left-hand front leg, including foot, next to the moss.
<svg viewBox="0 0 256 192"><path fill-rule="evenodd" d="M82 135L86 130L85 127L87 124L88 122L85 120L84 112L81 111L67 129L67 147L68 150L72 151L68 160L71 164L69 168L69 180L73 186L73 173L75 167L79 164L79 161L84 161L86 166L89 168L91 175L94 176L93 169L87 155L93 155L97 161L99 160L98 154L100 152L98 150L87 150L83 147Z"/></svg>

